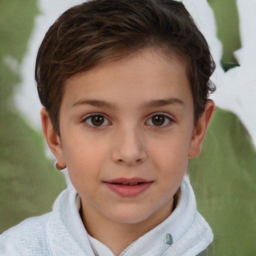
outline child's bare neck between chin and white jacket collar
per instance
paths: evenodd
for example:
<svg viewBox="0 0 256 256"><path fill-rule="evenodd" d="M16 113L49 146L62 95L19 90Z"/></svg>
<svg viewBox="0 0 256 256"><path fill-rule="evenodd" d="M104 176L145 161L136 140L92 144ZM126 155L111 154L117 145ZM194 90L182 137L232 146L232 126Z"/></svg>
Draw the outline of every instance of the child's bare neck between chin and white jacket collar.
<svg viewBox="0 0 256 256"><path fill-rule="evenodd" d="M87 232L115 255L119 255L128 245L169 216L173 210L173 198L163 207L140 222L120 223L105 217L81 201L80 215Z"/></svg>

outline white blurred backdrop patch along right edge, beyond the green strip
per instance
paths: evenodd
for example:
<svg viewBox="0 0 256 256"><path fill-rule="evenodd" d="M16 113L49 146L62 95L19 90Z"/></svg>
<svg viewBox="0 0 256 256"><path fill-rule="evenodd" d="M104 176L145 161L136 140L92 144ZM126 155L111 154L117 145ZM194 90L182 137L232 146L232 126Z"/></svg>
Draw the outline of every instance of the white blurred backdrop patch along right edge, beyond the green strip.
<svg viewBox="0 0 256 256"><path fill-rule="evenodd" d="M237 0L241 48L234 52L240 66L229 69L216 92L216 105L235 113L256 147L256 1Z"/></svg>

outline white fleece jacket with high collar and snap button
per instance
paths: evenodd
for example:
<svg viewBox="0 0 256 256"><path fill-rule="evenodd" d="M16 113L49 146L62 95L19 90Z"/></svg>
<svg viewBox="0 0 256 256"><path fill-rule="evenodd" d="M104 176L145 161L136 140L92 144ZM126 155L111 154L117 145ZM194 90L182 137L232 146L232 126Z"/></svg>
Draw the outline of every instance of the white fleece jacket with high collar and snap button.
<svg viewBox="0 0 256 256"><path fill-rule="evenodd" d="M194 256L211 243L211 229L196 210L187 174L180 192L170 216L139 237L121 256ZM28 218L0 235L0 255L97 255L90 246L79 207L79 195L68 182L51 212Z"/></svg>

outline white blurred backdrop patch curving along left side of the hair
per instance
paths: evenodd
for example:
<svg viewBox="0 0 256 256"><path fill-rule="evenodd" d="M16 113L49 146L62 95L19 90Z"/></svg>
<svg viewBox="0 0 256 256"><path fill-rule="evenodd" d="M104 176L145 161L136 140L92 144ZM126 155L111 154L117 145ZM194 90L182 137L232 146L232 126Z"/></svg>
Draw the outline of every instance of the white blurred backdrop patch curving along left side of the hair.
<svg viewBox="0 0 256 256"><path fill-rule="evenodd" d="M17 109L35 129L41 129L40 109L35 81L34 66L39 45L52 23L69 7L82 2L81 0L39 0L41 14L36 15L34 28L28 41L28 50L20 64L21 84L16 87L14 101Z"/></svg>

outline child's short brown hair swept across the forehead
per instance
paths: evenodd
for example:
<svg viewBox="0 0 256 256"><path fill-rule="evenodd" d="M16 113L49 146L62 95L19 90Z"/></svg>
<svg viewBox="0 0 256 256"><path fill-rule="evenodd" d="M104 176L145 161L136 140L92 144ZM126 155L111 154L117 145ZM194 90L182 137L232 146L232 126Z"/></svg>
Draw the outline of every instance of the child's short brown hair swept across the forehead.
<svg viewBox="0 0 256 256"><path fill-rule="evenodd" d="M39 47L35 80L42 105L59 134L64 82L77 72L160 47L186 59L194 121L215 86L215 63L208 44L184 5L177 0L90 0L66 10L46 32Z"/></svg>

